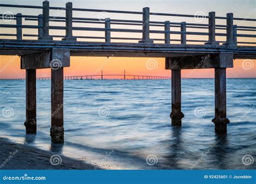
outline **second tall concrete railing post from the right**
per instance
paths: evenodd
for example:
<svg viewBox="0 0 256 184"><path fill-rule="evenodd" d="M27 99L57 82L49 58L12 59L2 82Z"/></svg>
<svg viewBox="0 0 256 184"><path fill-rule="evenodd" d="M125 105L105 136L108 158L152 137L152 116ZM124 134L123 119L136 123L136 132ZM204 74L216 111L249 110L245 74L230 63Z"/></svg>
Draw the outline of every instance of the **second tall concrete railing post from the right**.
<svg viewBox="0 0 256 184"><path fill-rule="evenodd" d="M218 42L215 40L215 12L209 12L209 18L208 18L208 24L209 24L209 36L208 36L208 42L205 43L206 45L219 45Z"/></svg>

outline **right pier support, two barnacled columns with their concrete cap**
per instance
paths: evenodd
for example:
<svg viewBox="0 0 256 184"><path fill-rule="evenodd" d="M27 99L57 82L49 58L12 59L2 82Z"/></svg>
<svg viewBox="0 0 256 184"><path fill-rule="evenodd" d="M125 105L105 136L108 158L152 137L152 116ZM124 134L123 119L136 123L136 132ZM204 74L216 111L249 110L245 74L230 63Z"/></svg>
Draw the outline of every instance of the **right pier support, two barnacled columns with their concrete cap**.
<svg viewBox="0 0 256 184"><path fill-rule="evenodd" d="M181 118L184 117L181 112L181 69L214 68L215 117L212 122L216 133L225 134L230 123L226 117L226 68L232 67L232 52L166 58L165 69L172 71L172 124L181 125Z"/></svg>

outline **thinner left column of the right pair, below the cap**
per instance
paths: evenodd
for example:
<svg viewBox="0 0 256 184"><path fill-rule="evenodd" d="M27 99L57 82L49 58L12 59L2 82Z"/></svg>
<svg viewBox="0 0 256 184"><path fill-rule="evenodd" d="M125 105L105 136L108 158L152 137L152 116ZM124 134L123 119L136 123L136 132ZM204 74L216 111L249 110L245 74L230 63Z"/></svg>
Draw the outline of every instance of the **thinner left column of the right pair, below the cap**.
<svg viewBox="0 0 256 184"><path fill-rule="evenodd" d="M172 125L181 125L184 114L181 112L181 70L172 69Z"/></svg>

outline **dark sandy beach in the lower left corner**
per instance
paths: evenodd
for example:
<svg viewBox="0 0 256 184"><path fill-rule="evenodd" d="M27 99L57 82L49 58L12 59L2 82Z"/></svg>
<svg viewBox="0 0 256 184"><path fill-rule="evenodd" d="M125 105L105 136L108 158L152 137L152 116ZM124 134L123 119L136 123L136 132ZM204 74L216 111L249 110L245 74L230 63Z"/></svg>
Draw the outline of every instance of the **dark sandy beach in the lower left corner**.
<svg viewBox="0 0 256 184"><path fill-rule="evenodd" d="M0 137L0 144L0 169L94 169L95 167L84 161L55 155L53 152L29 145L17 144L6 138Z"/></svg>

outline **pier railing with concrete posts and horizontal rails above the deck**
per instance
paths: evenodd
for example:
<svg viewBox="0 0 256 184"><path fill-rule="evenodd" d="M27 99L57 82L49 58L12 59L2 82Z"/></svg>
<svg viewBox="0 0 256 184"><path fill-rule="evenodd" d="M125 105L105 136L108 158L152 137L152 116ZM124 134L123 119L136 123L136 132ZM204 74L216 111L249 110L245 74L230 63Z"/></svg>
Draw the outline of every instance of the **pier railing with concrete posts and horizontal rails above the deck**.
<svg viewBox="0 0 256 184"><path fill-rule="evenodd" d="M215 12L208 13L206 15L181 15L172 13L157 13L151 12L149 8L143 8L142 12L139 11L120 11L120 10L100 10L100 9L84 9L84 8L72 8L72 3L66 3L64 8L50 6L48 1L44 1L42 6L32 5L12 5L12 4L0 4L0 7L18 8L18 9L41 9L41 15L22 15L17 13L12 15L9 13L0 12L0 19L5 20L0 24L2 28L16 29L16 34L11 34L8 31L0 32L0 38L16 37L17 40L36 38L38 40L53 40L53 38L62 38L62 40L76 41L77 39L102 40L101 42L111 43L113 40L122 42L124 40L138 41L139 43L153 44L156 41L160 41L164 44L187 44L189 43L203 43L204 45L217 46L223 44L224 46L235 47L238 44L255 46L256 42L251 41L249 38L256 38L256 26L243 26L244 23L252 23L255 25L256 19L252 18L235 18L233 13L227 13L226 17L215 16ZM66 16L50 15L50 10L65 11ZM73 17L73 12L99 12L104 14L103 18L86 18L86 17ZM142 15L142 20L133 19L114 19L110 14L116 13L118 15ZM109 16L109 17L106 17ZM151 18L158 19L158 17L168 17L166 21L151 21ZM208 19L208 24L201 23L189 23L189 22L172 22L173 17L194 18L194 19ZM216 20L226 20L226 24L215 24ZM6 21L8 20L8 21ZM16 23L14 22L16 20ZM26 22L24 24L24 21ZM30 25L28 23L37 22L37 25ZM239 25L234 24L234 21L238 21ZM8 24L6 24L8 22ZM52 25L53 22L65 23L65 26ZM85 26L73 26L73 23L82 23ZM93 27L92 25L100 24L103 27ZM243 24L243 25L241 25ZM133 29L113 28L111 25L119 26L133 26ZM142 26L142 29L134 29L134 26ZM153 29L152 29L153 27ZM161 27L161 30L157 30L156 27ZM172 29L178 28L180 31L174 31ZM24 29L37 30L37 34L23 34ZM199 31L190 31L197 29ZM65 35L50 34L51 30L65 30ZM226 31L221 33L219 31ZM99 31L104 32L105 36L90 36L90 34L83 33L83 36L74 36L73 31ZM207 32L206 32L207 31ZM114 32L126 33L124 37L112 37ZM253 34L250 34L253 32ZM142 38L131 37L129 33L140 33ZM157 34L157 38L150 38L151 34ZM179 35L180 39L176 39L174 35ZM188 36L207 36L208 39L187 39ZM225 39L223 39L225 37ZM175 38L175 39L174 39ZM217 39L218 38L218 39ZM246 40L247 39L247 40ZM254 39L255 40L255 39Z"/></svg>

